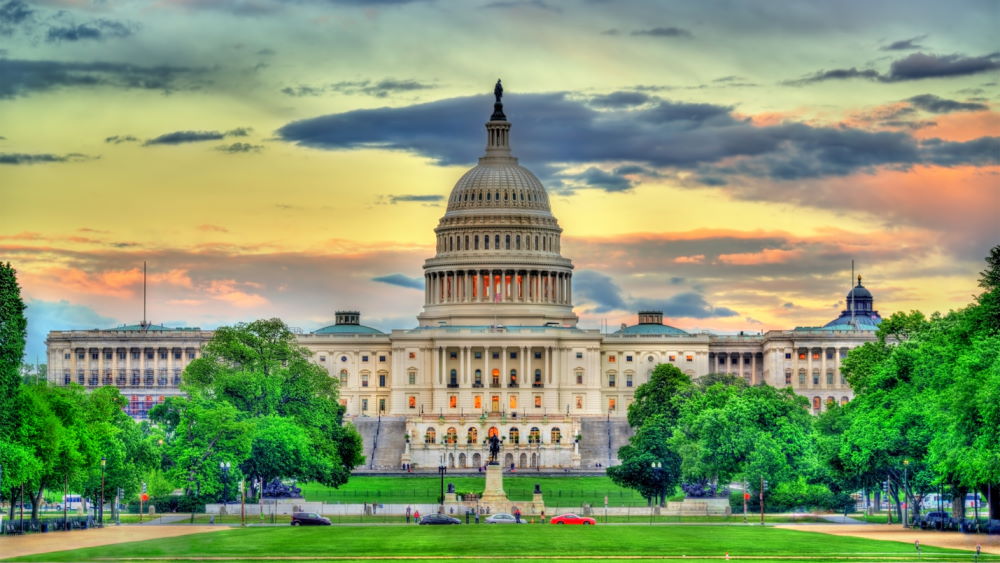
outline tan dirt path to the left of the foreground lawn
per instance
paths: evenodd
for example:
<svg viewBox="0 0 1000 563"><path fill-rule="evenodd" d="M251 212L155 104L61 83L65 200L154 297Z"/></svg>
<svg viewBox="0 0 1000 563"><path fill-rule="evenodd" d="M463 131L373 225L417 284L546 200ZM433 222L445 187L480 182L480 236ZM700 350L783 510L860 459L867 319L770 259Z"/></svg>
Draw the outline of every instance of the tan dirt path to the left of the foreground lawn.
<svg viewBox="0 0 1000 563"><path fill-rule="evenodd" d="M109 526L71 532L6 536L0 539L0 552L3 552L5 558L20 557L35 553L170 538L228 529L228 526Z"/></svg>

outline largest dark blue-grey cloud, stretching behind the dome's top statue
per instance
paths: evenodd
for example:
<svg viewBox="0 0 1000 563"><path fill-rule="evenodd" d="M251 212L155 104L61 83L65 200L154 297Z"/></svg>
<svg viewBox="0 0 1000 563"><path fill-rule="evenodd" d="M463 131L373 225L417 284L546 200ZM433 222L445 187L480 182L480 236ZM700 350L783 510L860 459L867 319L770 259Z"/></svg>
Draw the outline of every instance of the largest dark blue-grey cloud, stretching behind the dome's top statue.
<svg viewBox="0 0 1000 563"><path fill-rule="evenodd" d="M477 96L355 110L292 122L277 135L316 148L379 147L417 153L441 165L467 165L480 155L482 146L482 133L469 123L485 119L489 105ZM621 162L660 173L694 170L710 185L724 185L734 175L800 180L879 166L944 163L940 147L925 147L907 132L794 122L758 126L737 118L729 107L711 104L658 100L641 109L597 110L586 101L554 93L512 96L505 110L513 122L515 151L557 188L568 179L621 191L627 179L610 176L625 172L609 175L599 166ZM988 156L974 154L976 147L987 148L969 145L949 152L966 154L966 163L974 164ZM570 167L596 171L588 170L584 176L566 172Z"/></svg>

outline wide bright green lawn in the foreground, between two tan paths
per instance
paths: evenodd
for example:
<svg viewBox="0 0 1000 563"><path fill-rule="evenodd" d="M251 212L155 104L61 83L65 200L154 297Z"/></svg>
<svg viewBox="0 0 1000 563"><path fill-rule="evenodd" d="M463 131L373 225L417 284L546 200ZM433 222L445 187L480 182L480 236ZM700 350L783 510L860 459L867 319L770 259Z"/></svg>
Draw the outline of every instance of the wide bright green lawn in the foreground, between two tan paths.
<svg viewBox="0 0 1000 563"><path fill-rule="evenodd" d="M719 526L333 526L234 528L144 542L44 553L15 561L129 560L268 556L343 559L422 557L424 561L601 560L616 557L718 560L753 556L821 562L853 556L865 561L912 561L913 546L771 527ZM551 559L549 559L551 558ZM926 561L968 561L969 552L925 546ZM984 556L981 561L1000 561Z"/></svg>

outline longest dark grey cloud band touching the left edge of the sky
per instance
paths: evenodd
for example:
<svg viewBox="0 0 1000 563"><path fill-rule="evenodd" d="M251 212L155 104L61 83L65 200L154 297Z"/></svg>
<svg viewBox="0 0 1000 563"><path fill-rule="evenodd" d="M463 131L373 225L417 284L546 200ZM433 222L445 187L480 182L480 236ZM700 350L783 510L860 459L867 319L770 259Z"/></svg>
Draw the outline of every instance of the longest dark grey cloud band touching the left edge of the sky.
<svg viewBox="0 0 1000 563"><path fill-rule="evenodd" d="M170 92L196 85L200 69L125 63L0 59L0 99L56 88L107 86Z"/></svg>

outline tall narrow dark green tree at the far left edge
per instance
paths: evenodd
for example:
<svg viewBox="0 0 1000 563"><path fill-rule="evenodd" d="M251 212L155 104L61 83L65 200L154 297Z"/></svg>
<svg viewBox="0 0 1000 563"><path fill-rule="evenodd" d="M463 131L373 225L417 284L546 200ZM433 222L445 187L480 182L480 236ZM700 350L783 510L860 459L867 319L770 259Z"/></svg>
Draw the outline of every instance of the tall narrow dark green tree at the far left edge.
<svg viewBox="0 0 1000 563"><path fill-rule="evenodd" d="M17 283L17 271L0 263L0 438L8 437L18 422L18 388L28 321Z"/></svg>

